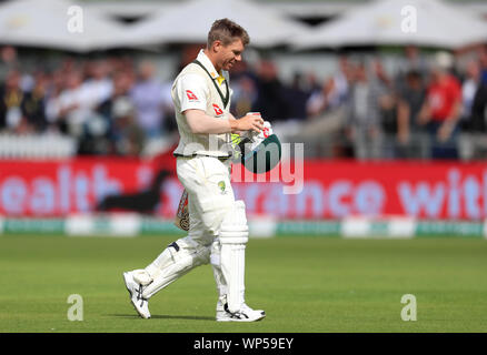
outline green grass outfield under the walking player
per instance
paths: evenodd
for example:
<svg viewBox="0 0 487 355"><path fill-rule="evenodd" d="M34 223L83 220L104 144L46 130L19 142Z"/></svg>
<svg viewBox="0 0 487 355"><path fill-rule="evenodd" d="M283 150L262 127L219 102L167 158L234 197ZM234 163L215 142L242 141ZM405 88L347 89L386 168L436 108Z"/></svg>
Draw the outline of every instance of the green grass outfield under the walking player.
<svg viewBox="0 0 487 355"><path fill-rule="evenodd" d="M250 240L247 302L258 323L217 323L209 265L150 301L129 303L122 271L145 267L170 237L0 236L0 332L486 332L487 241ZM83 321L70 322L70 294ZM417 321L404 322L404 294Z"/></svg>

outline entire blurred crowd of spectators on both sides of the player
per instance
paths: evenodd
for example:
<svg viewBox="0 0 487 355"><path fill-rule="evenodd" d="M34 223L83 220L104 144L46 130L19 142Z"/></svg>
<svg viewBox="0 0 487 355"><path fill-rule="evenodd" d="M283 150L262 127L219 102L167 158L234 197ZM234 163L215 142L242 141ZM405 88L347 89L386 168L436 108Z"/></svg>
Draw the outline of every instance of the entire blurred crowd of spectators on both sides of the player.
<svg viewBox="0 0 487 355"><path fill-rule="evenodd" d="M123 156L177 132L171 82L160 81L149 60L67 58L27 72L13 48L2 48L0 59L2 132L69 135L78 154ZM401 59L390 73L378 58L340 54L329 78L295 73L289 83L271 60L242 62L231 74L231 111L262 112L284 141L321 144L327 158L483 158L487 49L463 65L447 52L427 60L414 47Z"/></svg>

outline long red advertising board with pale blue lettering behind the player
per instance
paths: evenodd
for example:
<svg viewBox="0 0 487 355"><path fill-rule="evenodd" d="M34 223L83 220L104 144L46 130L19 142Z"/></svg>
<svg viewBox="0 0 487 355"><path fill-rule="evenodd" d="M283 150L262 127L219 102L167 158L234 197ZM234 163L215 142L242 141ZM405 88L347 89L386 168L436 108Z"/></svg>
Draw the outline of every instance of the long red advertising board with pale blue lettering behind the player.
<svg viewBox="0 0 487 355"><path fill-rule="evenodd" d="M487 217L487 163L306 161L280 169L271 182L235 182L250 215L341 219L408 215L421 219ZM169 166L170 165L170 166ZM95 210L110 194L148 189L166 164L126 159L0 161L0 214L60 216ZM239 173L233 171L233 178ZM238 180L238 179L236 179ZM241 179L240 179L241 180ZM290 187L294 189L290 189ZM182 186L175 175L160 187L157 214L176 213Z"/></svg>

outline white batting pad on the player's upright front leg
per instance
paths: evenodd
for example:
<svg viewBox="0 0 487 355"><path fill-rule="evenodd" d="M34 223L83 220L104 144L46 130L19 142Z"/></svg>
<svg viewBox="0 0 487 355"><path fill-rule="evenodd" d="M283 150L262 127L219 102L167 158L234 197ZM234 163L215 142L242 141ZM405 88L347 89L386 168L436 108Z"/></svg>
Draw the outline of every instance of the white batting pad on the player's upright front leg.
<svg viewBox="0 0 487 355"><path fill-rule="evenodd" d="M236 201L220 227L220 266L227 281L230 312L240 311L245 302L245 251L249 231L244 201Z"/></svg>

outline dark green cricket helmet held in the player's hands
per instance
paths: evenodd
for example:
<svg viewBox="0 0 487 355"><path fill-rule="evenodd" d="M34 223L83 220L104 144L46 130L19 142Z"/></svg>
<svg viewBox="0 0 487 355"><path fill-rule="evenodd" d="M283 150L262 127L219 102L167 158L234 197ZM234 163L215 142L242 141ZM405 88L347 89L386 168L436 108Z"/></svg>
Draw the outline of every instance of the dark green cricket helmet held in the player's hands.
<svg viewBox="0 0 487 355"><path fill-rule="evenodd" d="M241 163L255 174L266 173L280 162L281 145L274 133L261 140L242 138L238 146Z"/></svg>

